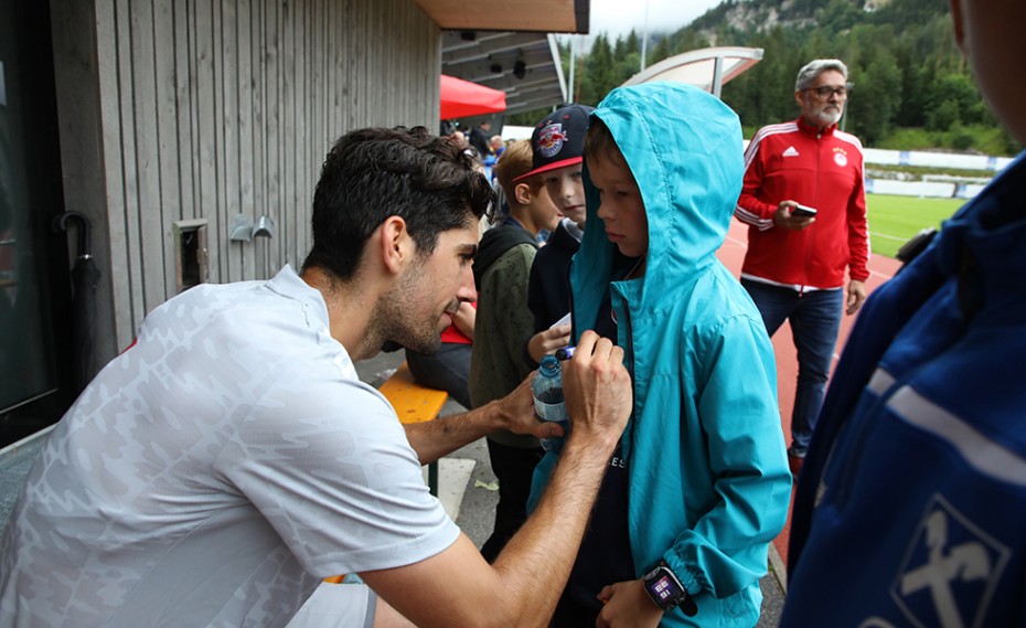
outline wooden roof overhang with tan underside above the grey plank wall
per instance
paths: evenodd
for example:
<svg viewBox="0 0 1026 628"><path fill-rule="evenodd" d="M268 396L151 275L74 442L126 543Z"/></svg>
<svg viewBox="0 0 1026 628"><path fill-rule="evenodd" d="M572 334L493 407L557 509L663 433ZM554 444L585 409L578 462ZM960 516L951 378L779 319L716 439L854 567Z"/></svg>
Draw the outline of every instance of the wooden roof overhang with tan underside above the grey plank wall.
<svg viewBox="0 0 1026 628"><path fill-rule="evenodd" d="M588 32L591 0L414 0L442 30Z"/></svg>

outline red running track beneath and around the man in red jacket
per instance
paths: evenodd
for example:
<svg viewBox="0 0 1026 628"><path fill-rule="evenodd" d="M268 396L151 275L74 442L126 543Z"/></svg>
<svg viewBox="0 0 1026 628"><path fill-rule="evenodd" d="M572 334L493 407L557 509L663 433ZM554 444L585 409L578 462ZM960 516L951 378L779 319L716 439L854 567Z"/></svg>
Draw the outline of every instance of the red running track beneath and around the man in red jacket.
<svg viewBox="0 0 1026 628"><path fill-rule="evenodd" d="M748 226L738 221L731 221L730 230L727 232L727 240L718 252L719 259L729 268L735 276L741 274L741 263L745 260L745 252L748 249ZM866 291L872 292L884 281L890 279L898 270L900 263L890 257L883 255L872 255L869 258L869 279L866 281ZM857 313L855 315L857 316ZM845 315L841 321L841 333L837 338L837 349L834 352L834 365L841 354L841 349L847 340L855 321L855 316ZM791 326L784 322L783 326L773 334L773 352L777 355L777 397L780 404L780 427L783 429L784 441L791 443L791 408L794 406L794 386L798 383L798 355L794 350L794 343L791 339ZM831 369L833 372L833 368ZM791 505L794 505L794 491L791 491ZM788 563L788 537L791 532L791 509L788 509L788 522L783 531L773 541L773 546L783 560L784 565Z"/></svg>

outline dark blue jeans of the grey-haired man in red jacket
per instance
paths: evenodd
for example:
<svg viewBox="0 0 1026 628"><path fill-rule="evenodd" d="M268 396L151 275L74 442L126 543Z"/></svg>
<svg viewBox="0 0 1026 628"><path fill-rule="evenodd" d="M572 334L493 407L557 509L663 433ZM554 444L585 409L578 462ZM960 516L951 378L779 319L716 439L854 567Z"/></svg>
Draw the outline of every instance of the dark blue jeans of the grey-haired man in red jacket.
<svg viewBox="0 0 1026 628"><path fill-rule="evenodd" d="M844 290L802 294L749 279L741 279L741 285L759 308L766 331L771 337L784 320L791 321L791 334L798 349L798 388L791 413L791 447L788 453L804 457L823 406L826 379L841 330Z"/></svg>

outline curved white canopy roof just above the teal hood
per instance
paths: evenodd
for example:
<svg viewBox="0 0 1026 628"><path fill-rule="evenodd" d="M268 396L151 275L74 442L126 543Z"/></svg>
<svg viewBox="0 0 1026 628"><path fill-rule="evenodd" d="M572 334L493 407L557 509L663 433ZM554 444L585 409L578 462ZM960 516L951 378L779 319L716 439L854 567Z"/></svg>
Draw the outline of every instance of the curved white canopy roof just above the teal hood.
<svg viewBox="0 0 1026 628"><path fill-rule="evenodd" d="M717 97L723 86L762 60L760 47L719 46L693 50L664 58L628 78L624 85L650 81L687 83Z"/></svg>

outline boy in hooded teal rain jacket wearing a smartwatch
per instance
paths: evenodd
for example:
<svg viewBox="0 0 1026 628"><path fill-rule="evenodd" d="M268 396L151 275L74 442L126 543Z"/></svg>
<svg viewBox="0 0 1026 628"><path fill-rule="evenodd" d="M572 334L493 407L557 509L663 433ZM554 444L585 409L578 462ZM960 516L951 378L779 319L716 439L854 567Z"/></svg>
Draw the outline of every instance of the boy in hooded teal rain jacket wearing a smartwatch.
<svg viewBox="0 0 1026 628"><path fill-rule="evenodd" d="M671 83L612 91L590 124L573 328L614 326L634 408L552 626L750 628L791 475L769 337L716 257L741 189L740 124ZM535 470L534 499L557 456Z"/></svg>

